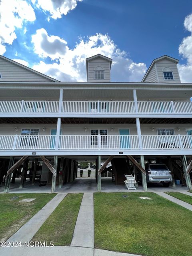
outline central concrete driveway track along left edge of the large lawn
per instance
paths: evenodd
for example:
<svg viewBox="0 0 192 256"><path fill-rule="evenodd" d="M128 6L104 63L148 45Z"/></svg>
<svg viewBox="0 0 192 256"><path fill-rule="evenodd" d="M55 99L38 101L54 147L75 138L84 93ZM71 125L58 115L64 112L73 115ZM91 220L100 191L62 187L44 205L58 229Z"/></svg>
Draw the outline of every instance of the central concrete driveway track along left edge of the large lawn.
<svg viewBox="0 0 192 256"><path fill-rule="evenodd" d="M71 246L94 248L93 193L84 193Z"/></svg>

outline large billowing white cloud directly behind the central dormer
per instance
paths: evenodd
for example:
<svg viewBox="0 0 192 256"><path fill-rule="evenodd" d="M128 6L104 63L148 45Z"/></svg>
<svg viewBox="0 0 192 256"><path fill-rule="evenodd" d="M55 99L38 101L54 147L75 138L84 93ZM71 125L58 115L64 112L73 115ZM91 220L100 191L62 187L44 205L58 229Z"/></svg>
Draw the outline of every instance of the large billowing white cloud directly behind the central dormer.
<svg viewBox="0 0 192 256"><path fill-rule="evenodd" d="M48 36L42 28L32 36L32 41L38 55L55 60L53 64L41 61L33 68L60 81L86 81L85 59L98 53L113 59L112 81L138 82L146 71L144 63L134 63L126 52L117 48L108 35L96 34L86 40L79 38L74 49L70 49L65 40L58 36Z"/></svg>

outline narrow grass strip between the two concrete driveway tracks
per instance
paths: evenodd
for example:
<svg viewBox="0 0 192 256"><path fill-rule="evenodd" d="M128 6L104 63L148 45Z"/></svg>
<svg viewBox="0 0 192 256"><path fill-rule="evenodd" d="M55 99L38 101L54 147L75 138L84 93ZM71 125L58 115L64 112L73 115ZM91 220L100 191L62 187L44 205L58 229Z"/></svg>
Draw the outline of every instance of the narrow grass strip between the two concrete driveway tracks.
<svg viewBox="0 0 192 256"><path fill-rule="evenodd" d="M54 246L70 245L82 196L82 193L68 194L40 227L32 241L52 241Z"/></svg>

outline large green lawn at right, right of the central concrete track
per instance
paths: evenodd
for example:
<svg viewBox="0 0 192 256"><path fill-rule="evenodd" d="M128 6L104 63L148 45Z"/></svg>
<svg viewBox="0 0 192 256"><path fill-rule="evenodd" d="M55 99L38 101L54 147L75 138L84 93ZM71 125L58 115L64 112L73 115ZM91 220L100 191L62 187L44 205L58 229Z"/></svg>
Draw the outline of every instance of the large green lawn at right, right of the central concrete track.
<svg viewBox="0 0 192 256"><path fill-rule="evenodd" d="M152 192L94 193L94 228L96 248L150 256L192 255L192 212Z"/></svg>

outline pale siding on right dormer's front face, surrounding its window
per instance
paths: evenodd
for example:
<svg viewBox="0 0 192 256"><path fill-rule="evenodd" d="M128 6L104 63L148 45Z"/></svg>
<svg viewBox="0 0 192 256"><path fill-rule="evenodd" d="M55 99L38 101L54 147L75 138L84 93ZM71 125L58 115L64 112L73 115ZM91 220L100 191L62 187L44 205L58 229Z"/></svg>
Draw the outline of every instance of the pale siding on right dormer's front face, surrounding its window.
<svg viewBox="0 0 192 256"><path fill-rule="evenodd" d="M170 68L174 80L165 80L164 79L164 75L163 72L166 71L164 70L164 68ZM178 68L177 68L177 64L170 61L170 60L159 60L156 62L156 69L157 69L157 74L158 74L158 78L159 78L159 82L160 83L180 83L180 76L179 76L179 72L178 72Z"/></svg>

